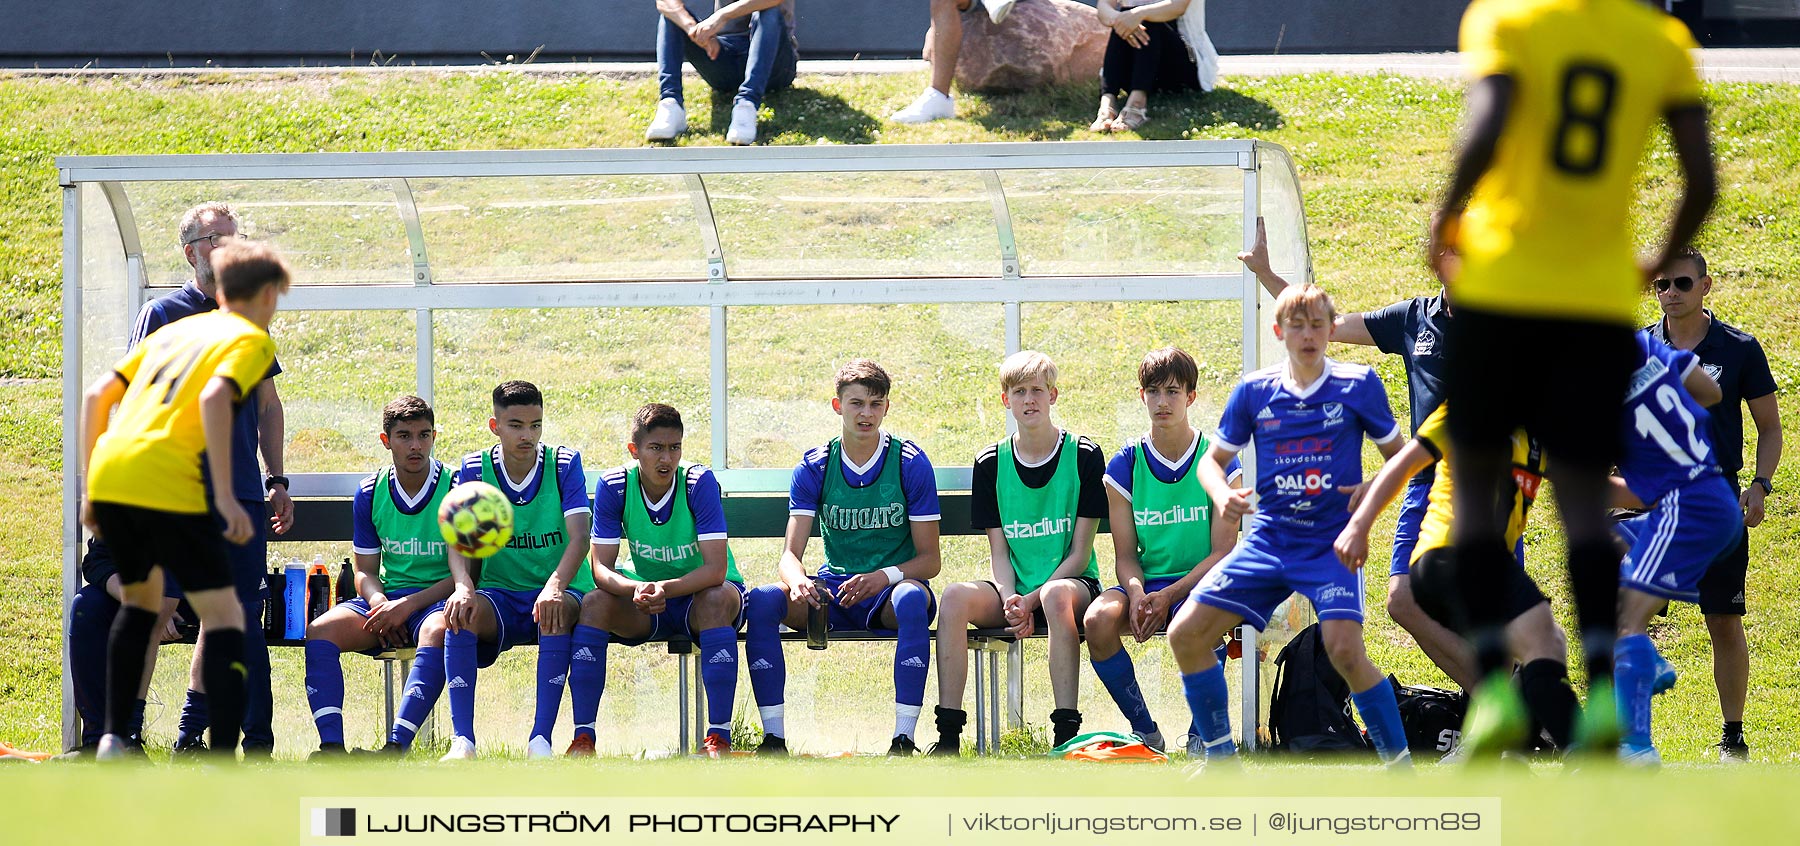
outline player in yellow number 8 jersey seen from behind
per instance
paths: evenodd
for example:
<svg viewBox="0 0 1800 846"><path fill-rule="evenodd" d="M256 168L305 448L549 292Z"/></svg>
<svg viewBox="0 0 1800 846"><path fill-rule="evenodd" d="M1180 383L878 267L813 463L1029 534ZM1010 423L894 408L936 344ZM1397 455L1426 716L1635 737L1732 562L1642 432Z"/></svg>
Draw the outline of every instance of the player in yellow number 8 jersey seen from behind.
<svg viewBox="0 0 1800 846"><path fill-rule="evenodd" d="M1683 25L1638 0L1476 0L1462 23L1472 83L1429 259L1456 301L1445 401L1456 443L1454 581L1483 680L1469 725L1510 677L1505 583L1508 443L1526 428L1552 481L1589 675L1577 734L1611 754L1618 551L1606 517L1618 416L1638 364L1633 317L1647 279L1699 230L1714 200L1706 110ZM1629 209L1658 119L1674 135L1683 194L1643 266ZM1487 504L1489 508L1483 508ZM1480 738L1463 738L1483 745Z"/></svg>

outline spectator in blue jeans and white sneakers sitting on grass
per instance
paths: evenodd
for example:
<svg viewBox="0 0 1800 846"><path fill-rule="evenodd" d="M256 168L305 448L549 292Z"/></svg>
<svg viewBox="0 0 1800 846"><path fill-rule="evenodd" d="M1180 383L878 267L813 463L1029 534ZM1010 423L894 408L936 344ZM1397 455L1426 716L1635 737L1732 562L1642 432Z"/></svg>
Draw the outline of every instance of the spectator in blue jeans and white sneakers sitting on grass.
<svg viewBox="0 0 1800 846"><path fill-rule="evenodd" d="M673 140L688 131L682 106L682 61L715 92L736 92L731 103L731 144L756 144L756 110L763 94L794 85L799 41L794 0L713 0L713 14L697 20L682 0L657 0L657 113L646 140Z"/></svg>

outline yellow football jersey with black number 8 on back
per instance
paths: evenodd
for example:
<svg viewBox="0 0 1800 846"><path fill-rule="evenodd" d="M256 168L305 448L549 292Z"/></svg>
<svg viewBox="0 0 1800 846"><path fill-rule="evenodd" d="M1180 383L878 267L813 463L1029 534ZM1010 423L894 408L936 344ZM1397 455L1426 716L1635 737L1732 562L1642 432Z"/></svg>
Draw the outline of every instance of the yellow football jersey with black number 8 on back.
<svg viewBox="0 0 1800 846"><path fill-rule="evenodd" d="M1661 115L1701 103L1694 47L1642 0L1469 5L1463 65L1512 77L1514 95L1463 214L1456 304L1633 326L1633 178Z"/></svg>

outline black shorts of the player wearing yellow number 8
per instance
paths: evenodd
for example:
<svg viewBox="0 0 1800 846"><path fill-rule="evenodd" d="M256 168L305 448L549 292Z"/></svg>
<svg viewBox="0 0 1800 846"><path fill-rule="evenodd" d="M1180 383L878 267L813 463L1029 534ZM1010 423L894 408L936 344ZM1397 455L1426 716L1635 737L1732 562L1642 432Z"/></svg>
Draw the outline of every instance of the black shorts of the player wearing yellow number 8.
<svg viewBox="0 0 1800 846"><path fill-rule="evenodd" d="M1445 329L1444 400L1458 448L1505 450L1519 427L1555 464L1609 472L1638 365L1629 326L1458 308Z"/></svg>

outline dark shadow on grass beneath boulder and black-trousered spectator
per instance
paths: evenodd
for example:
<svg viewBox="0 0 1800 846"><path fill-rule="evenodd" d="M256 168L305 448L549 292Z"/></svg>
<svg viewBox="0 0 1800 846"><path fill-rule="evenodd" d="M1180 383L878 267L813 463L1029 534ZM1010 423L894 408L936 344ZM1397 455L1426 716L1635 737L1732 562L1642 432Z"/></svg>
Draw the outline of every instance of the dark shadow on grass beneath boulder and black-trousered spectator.
<svg viewBox="0 0 1800 846"><path fill-rule="evenodd" d="M1064 85L1015 94L986 94L970 121L988 131L1024 135L1035 140L1062 140L1085 133L1100 104L1094 85ZM1282 113L1274 106L1229 88L1211 94L1152 94L1150 122L1121 139L1183 139L1193 130L1238 124L1246 130L1271 131L1282 128Z"/></svg>

